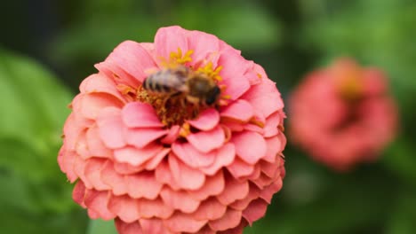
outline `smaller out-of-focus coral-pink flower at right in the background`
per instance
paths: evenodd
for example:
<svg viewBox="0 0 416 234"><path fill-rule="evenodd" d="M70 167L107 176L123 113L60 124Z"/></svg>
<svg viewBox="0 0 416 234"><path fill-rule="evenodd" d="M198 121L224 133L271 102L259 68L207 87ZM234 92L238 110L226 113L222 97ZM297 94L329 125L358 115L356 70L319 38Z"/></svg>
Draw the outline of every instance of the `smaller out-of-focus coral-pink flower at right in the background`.
<svg viewBox="0 0 416 234"><path fill-rule="evenodd" d="M292 141L336 170L376 160L396 122L384 75L348 58L309 74L291 98Z"/></svg>

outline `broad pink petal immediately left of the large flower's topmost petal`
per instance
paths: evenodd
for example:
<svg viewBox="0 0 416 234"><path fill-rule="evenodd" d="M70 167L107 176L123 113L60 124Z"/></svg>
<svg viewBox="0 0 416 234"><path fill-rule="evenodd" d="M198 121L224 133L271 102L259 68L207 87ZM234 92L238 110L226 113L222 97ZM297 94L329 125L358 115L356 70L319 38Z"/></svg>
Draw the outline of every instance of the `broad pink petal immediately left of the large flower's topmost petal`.
<svg viewBox="0 0 416 234"><path fill-rule="evenodd" d="M106 58L106 62L111 62L124 69L140 82L147 77L146 70L156 67L152 56L148 54L140 43L125 41L120 43L116 49Z"/></svg>

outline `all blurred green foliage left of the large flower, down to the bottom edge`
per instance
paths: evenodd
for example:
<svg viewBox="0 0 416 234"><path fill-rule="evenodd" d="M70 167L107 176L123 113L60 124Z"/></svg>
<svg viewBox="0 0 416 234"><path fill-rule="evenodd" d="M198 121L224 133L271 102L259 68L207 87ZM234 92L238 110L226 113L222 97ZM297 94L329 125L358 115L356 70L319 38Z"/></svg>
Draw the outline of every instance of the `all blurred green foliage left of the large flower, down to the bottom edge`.
<svg viewBox="0 0 416 234"><path fill-rule="evenodd" d="M2 233L82 232L85 215L56 163L68 90L34 61L0 51L0 98Z"/></svg>

